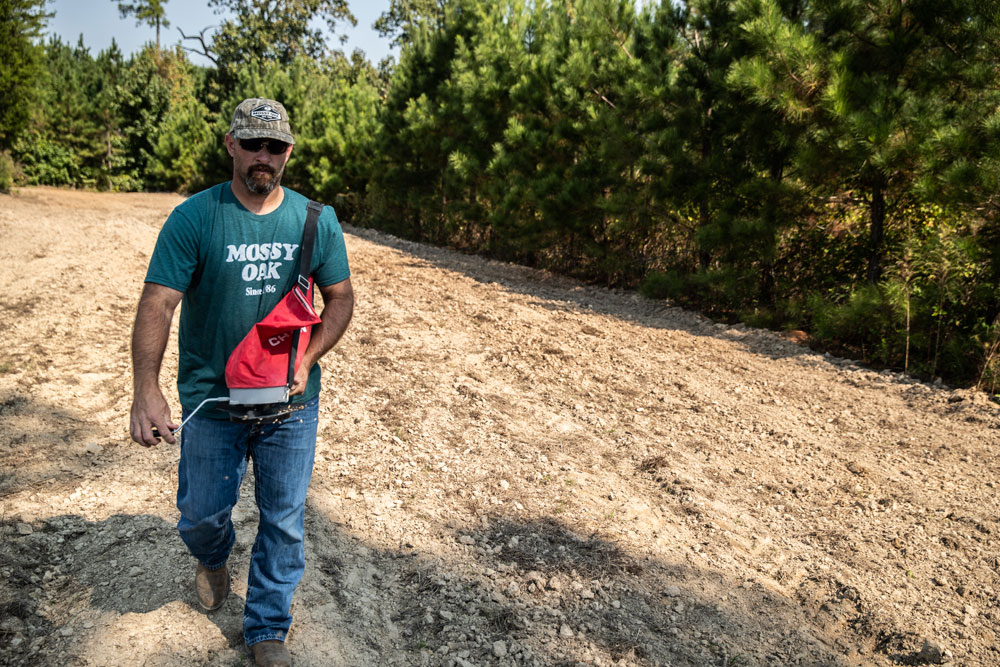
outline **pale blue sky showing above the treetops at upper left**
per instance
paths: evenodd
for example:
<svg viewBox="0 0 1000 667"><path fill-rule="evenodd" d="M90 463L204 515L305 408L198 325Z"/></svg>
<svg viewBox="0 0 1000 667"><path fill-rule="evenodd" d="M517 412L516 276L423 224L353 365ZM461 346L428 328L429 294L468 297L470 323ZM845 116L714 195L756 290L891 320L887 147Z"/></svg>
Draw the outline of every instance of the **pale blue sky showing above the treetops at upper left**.
<svg viewBox="0 0 1000 667"><path fill-rule="evenodd" d="M361 49L377 65L382 58L393 53L389 48L389 40L379 37L372 29L375 19L389 9L389 0L349 0L348 6L358 19L358 25L354 28L346 23L340 26L341 33L348 35L346 45L340 46L332 36L330 43L334 48L342 48L347 53L356 48ZM181 42L181 34L177 28L181 28L185 35L197 34L206 26L218 25L223 18L214 13L206 0L167 0L165 7L170 27L160 28L160 43L163 46ZM121 18L117 0L48 0L46 11L55 13L49 19L49 35L58 35L64 42L76 44L83 34L84 45L94 55L111 46L112 37L126 56L138 51L146 42L156 41L156 28L145 24L136 25L135 17L132 16ZM187 42L187 45L197 46L197 42ZM196 54L189 52L188 56L199 65L211 64Z"/></svg>

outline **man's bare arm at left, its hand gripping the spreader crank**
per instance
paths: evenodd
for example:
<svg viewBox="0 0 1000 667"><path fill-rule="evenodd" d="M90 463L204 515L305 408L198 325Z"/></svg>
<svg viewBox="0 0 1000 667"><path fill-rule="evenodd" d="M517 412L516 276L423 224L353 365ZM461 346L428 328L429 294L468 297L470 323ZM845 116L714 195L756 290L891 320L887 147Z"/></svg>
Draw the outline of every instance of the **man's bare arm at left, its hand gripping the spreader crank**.
<svg viewBox="0 0 1000 667"><path fill-rule="evenodd" d="M173 444L170 434L177 425L170 421L170 406L160 389L160 365L167 349L170 322L183 292L146 283L139 299L139 308L132 328L132 415L129 432L132 439L145 447L160 442L153 435L156 427L163 438Z"/></svg>

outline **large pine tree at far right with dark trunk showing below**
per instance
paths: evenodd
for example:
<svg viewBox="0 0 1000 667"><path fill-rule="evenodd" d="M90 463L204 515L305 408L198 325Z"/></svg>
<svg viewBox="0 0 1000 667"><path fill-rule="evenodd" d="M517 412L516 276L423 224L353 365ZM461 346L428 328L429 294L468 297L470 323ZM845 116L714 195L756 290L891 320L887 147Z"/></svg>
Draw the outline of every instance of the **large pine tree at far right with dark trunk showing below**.
<svg viewBox="0 0 1000 667"><path fill-rule="evenodd" d="M975 0L747 2L760 52L741 65L756 99L808 124L798 164L829 196L868 213L866 280L877 283L887 225L916 200L920 178L948 168L927 148L952 134L985 42ZM791 10L791 11L790 11ZM995 34L995 33L993 33ZM931 159L928 159L930 157ZM940 170L939 170L940 169ZM922 176L921 176L922 175Z"/></svg>

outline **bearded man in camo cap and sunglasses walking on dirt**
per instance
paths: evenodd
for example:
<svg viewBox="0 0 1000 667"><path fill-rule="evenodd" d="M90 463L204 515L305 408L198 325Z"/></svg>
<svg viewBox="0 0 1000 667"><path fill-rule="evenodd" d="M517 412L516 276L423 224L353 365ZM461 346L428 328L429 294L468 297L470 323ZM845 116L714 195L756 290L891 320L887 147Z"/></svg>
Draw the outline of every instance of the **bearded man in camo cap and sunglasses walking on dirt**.
<svg viewBox="0 0 1000 667"><path fill-rule="evenodd" d="M294 143L280 103L244 100L225 136L233 180L186 200L160 231L132 333L130 429L136 442L152 446L157 435L176 442L171 430L177 424L159 372L182 299L177 388L187 417L204 399L228 395L227 357L295 284L307 199L280 185ZM344 237L330 207L319 217L311 264L303 273L313 277L325 306L289 389L295 410L280 421L239 422L217 408L203 409L180 438L177 527L198 561L195 591L209 611L229 593L231 513L247 461L253 461L260 523L243 635L258 665L291 664L284 640L305 569L305 498L320 385L316 362L340 339L354 308Z"/></svg>

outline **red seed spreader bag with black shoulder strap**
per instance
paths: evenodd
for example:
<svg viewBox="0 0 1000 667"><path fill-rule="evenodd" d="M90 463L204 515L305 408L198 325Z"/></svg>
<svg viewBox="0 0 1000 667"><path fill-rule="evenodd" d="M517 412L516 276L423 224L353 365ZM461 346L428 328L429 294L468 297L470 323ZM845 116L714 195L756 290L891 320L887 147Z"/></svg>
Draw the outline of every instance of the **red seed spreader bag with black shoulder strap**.
<svg viewBox="0 0 1000 667"><path fill-rule="evenodd" d="M308 274L322 210L322 204L309 202L295 287L253 326L226 361L230 406L288 402L288 389L309 345L312 326L320 321Z"/></svg>

